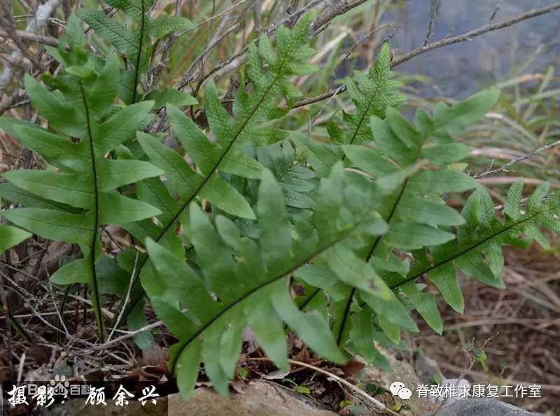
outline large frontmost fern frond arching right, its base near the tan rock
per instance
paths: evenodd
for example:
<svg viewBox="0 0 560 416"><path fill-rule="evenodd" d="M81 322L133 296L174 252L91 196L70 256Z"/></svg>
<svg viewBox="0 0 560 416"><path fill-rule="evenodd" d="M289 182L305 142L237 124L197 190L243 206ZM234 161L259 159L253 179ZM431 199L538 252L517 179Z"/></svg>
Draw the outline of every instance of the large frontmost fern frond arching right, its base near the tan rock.
<svg viewBox="0 0 560 416"><path fill-rule="evenodd" d="M246 325L281 368L287 367L282 322L318 354L344 361L324 317L301 313L288 292L289 276L311 260L328 261L325 268L335 276L332 282L358 286L378 299L391 294L373 268L360 264L344 247L346 238L358 230L370 238L386 231L384 222L372 215L381 192L376 188L367 205L349 212L344 206L353 196L346 190L352 185L344 183L341 167L335 166L330 178L321 180L311 218L295 224L282 202L281 186L271 172L263 171L258 241L241 236L235 223L222 215L211 222L191 203L183 226L200 271L190 268L183 256L146 241L157 272L146 292L158 316L179 338L169 368L176 373L183 396L194 388L201 359L214 387L228 394Z"/></svg>

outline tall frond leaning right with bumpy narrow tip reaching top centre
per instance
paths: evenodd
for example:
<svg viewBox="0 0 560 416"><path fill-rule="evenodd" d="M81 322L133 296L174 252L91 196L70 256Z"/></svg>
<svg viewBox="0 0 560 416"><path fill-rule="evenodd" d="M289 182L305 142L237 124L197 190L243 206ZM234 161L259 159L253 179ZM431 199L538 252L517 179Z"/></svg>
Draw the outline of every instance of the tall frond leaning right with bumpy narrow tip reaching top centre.
<svg viewBox="0 0 560 416"><path fill-rule="evenodd" d="M221 178L220 173L230 173L244 178L260 178L262 166L241 151L246 145L271 143L283 138L283 133L269 127L265 122L280 117L286 109L279 108L279 102L286 99L293 102L298 95L290 83L290 77L308 73L313 69L305 59L313 50L307 48L311 16L302 17L293 29L279 28L277 48L274 49L266 36L259 38L258 48L251 45L248 51L247 76L251 82L251 92L240 89L235 97L233 116L230 115L218 96L214 83L209 82L204 90L204 108L211 133L216 141L212 142L193 120L181 110L168 106L167 113L172 131L183 145L196 165L196 171L187 164L178 152L167 148L158 138L139 134L139 143L146 155L165 171L169 179L169 190L179 197L178 203L169 205L168 215L158 218L161 227L147 222L130 224L127 230L140 241L146 237L156 242L179 241L172 235L174 224L186 216L187 208L196 199L206 199L224 213L254 220L255 214L239 192ZM268 64L265 71L264 62ZM158 186L158 199L169 201L167 187ZM153 188L153 187L152 187ZM155 189L155 188L153 188ZM153 200L153 194L151 194ZM177 243L175 243L176 246ZM179 243L180 245L180 243ZM150 280L151 268L141 262L141 280ZM141 294L141 291L138 292ZM133 297L129 310L140 301L141 296Z"/></svg>

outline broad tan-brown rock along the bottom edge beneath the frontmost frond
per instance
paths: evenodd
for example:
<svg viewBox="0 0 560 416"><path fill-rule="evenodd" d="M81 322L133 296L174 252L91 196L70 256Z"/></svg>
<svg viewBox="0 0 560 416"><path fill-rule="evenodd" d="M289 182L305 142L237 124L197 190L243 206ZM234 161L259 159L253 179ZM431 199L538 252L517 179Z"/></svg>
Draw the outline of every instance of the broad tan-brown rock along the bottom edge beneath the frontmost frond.
<svg viewBox="0 0 560 416"><path fill-rule="evenodd" d="M130 401L126 407L83 406L85 399L73 399L50 411L50 416L113 416L113 415L169 415L169 416L336 416L319 408L301 394L296 394L271 382L257 381L244 387L241 394L223 397L213 390L201 387L186 402L179 394L158 399L156 405L142 407Z"/></svg>

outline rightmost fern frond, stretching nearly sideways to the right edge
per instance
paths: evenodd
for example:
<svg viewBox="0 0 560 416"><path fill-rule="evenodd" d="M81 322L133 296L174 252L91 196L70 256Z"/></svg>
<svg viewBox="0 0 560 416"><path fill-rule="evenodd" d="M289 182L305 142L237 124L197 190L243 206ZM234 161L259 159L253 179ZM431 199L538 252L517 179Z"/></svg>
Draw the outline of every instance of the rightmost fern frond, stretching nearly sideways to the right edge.
<svg viewBox="0 0 560 416"><path fill-rule="evenodd" d="M410 285L410 282L427 274L430 282L442 293L445 301L458 312L463 311L463 295L457 285L455 270L486 285L503 288L503 245L527 247L536 241L548 248L547 238L540 229L560 232L560 195L544 200L549 184L544 182L531 197L524 212L520 211L519 196L523 182L517 182L507 194L505 218L498 219L490 194L479 187L463 208L465 223L458 228L457 239L440 248L430 248L430 261L426 253L419 253L412 270L405 280L393 281L393 287ZM422 255L423 254L423 255Z"/></svg>

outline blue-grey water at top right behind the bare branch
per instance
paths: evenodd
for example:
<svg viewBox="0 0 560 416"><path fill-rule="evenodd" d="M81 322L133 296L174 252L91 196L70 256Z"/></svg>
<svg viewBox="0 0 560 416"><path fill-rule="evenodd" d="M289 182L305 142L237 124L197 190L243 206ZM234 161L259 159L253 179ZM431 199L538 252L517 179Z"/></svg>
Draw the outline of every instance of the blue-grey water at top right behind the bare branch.
<svg viewBox="0 0 560 416"><path fill-rule="evenodd" d="M489 22L499 5L493 23L510 19L533 8L554 3L553 0L440 0L435 30L430 42L455 36ZM399 53L423 43L430 20L430 0L398 0L386 13L386 22L395 22L391 46ZM524 73L556 67L560 73L560 10L533 17L498 31L426 52L398 66L402 73L414 73L435 80L434 87L422 88L423 96L443 94L455 99L503 80L512 70L524 66L536 55Z"/></svg>

